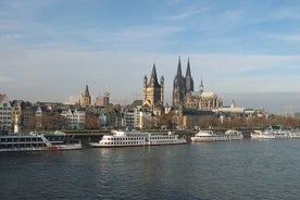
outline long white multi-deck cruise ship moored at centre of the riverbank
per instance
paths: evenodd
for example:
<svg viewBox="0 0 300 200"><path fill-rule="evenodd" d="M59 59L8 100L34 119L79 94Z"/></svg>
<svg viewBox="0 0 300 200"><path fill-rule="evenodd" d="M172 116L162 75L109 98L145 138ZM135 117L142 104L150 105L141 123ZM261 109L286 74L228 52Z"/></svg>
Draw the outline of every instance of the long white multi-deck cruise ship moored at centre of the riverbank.
<svg viewBox="0 0 300 200"><path fill-rule="evenodd" d="M112 135L104 135L99 142L90 142L91 147L129 147L129 146L161 146L186 143L173 133L154 134L138 130L114 130Z"/></svg>

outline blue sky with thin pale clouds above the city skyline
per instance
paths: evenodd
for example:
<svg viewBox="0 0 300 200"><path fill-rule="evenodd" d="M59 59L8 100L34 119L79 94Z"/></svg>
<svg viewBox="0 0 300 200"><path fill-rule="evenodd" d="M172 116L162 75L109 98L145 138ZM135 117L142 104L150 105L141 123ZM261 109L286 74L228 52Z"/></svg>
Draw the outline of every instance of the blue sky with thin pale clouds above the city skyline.
<svg viewBox="0 0 300 200"><path fill-rule="evenodd" d="M172 103L178 57L228 105L300 111L298 0L0 0L0 93L72 102L89 86L142 98L155 63Z"/></svg>

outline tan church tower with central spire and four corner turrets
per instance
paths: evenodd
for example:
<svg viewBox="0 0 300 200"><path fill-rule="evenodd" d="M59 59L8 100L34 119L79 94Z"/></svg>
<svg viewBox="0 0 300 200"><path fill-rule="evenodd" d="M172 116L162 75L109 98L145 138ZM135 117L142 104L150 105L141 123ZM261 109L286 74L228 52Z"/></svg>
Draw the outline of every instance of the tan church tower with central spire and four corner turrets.
<svg viewBox="0 0 300 200"><path fill-rule="evenodd" d="M158 82L157 67L155 63L153 64L151 77L148 83L147 76L143 78L143 89L142 89L142 104L148 104L150 108L153 108L154 104L161 103L164 101L164 78L163 76Z"/></svg>

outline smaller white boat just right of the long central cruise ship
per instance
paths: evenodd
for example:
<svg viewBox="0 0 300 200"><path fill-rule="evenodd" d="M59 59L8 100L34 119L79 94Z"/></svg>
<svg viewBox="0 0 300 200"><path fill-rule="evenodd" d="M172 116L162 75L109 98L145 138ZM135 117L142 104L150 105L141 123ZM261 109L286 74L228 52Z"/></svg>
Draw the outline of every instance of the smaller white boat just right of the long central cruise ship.
<svg viewBox="0 0 300 200"><path fill-rule="evenodd" d="M200 130L193 137L192 142L197 141L228 141L242 139L242 134L238 130L228 129L225 134L215 134L213 130Z"/></svg>

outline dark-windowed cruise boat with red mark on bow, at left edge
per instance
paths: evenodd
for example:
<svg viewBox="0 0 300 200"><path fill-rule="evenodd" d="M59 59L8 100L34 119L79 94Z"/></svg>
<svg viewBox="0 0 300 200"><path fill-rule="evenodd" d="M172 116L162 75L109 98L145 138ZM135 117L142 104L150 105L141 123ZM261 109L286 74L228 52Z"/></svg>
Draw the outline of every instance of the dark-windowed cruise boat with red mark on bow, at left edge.
<svg viewBox="0 0 300 200"><path fill-rule="evenodd" d="M0 135L1 151L42 151L82 149L80 140L68 138L65 133L29 133Z"/></svg>

